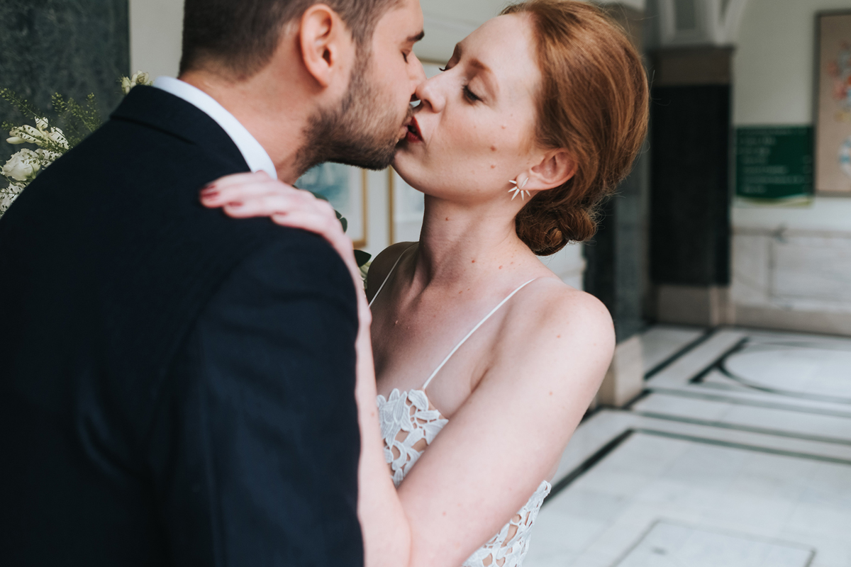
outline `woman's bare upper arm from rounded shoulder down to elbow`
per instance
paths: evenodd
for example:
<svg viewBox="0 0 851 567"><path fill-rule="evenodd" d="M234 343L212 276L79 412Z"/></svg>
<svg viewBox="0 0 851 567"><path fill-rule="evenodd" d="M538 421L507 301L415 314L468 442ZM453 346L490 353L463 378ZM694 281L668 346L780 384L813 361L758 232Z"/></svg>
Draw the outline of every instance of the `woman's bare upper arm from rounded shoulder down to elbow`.
<svg viewBox="0 0 851 567"><path fill-rule="evenodd" d="M481 382L399 486L412 567L457 567L499 532L551 473L608 369L614 328L597 299L558 281L514 299Z"/></svg>

